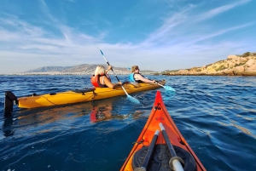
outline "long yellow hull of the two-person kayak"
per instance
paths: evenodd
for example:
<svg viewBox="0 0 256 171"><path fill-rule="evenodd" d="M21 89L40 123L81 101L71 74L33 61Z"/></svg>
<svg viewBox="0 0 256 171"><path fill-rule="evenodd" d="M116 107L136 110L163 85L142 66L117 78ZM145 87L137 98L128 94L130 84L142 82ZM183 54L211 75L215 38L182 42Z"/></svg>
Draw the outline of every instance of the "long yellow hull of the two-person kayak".
<svg viewBox="0 0 256 171"><path fill-rule="evenodd" d="M162 85L166 84L163 80L159 82ZM139 83L139 86L132 84L123 85L127 94L148 91L160 88L156 83ZM124 89L119 86L118 88L96 88L94 91L85 93L76 93L74 91L60 92L56 94L43 94L28 97L21 97L18 99L18 106L20 108L35 108L53 105L67 105L73 103L86 102L91 100L102 100L114 96L125 95Z"/></svg>

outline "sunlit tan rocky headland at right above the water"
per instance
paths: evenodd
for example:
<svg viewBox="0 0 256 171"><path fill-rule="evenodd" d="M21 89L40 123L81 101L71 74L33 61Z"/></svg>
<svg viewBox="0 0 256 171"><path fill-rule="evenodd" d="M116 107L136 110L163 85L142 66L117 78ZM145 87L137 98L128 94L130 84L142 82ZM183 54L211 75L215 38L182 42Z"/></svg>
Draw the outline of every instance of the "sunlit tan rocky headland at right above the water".
<svg viewBox="0 0 256 171"><path fill-rule="evenodd" d="M256 76L256 53L229 55L226 60L178 71L164 71L169 76Z"/></svg>

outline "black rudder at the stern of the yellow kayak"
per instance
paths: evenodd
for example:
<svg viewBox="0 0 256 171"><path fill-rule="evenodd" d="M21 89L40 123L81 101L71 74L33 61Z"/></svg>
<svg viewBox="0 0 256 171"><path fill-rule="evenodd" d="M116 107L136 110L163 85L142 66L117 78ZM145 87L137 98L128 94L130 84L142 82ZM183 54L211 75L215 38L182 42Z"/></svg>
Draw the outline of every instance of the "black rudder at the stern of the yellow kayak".
<svg viewBox="0 0 256 171"><path fill-rule="evenodd" d="M5 92L5 99L4 99L4 117L9 117L14 108L14 101L15 104L18 104L17 97L11 91Z"/></svg>

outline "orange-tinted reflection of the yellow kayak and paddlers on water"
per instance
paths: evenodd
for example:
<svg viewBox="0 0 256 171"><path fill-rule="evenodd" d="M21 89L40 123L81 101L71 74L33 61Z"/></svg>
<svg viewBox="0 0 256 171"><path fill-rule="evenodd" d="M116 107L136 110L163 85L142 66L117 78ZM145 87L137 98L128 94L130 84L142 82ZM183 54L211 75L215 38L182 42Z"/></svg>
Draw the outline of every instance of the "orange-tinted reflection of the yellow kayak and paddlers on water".
<svg viewBox="0 0 256 171"><path fill-rule="evenodd" d="M84 117L85 121L90 118L90 123L98 123L112 119L122 120L128 117L137 119L143 115L144 111L122 113L122 103L127 103L124 97L114 97L76 105L19 109L14 116L4 119L3 136L12 136L17 131L19 136L23 136L25 134L49 133L62 128L68 129L67 126L79 117ZM28 129L31 131L27 132Z"/></svg>

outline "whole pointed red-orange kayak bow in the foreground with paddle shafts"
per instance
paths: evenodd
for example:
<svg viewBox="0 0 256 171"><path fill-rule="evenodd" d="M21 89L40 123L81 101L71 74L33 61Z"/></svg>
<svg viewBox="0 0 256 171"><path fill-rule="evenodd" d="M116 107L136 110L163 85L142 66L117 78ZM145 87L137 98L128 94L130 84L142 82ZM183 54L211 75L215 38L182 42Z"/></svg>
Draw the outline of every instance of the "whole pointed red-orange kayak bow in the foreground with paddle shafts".
<svg viewBox="0 0 256 171"><path fill-rule="evenodd" d="M157 91L148 121L121 171L201 171L195 152L172 121L160 91Z"/></svg>

